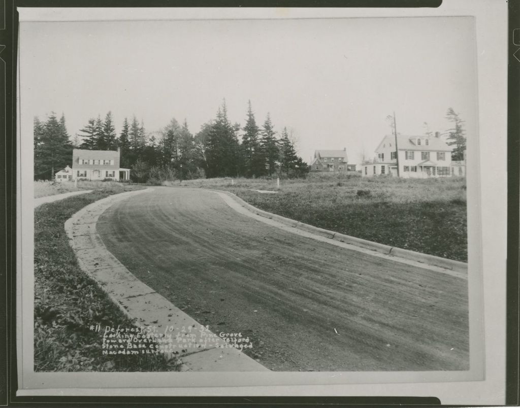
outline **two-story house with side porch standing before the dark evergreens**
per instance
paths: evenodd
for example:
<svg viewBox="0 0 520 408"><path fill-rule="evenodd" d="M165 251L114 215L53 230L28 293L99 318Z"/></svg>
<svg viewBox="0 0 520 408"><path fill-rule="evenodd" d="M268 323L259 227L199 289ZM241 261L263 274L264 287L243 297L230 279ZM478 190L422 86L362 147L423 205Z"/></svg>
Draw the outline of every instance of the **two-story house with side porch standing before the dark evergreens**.
<svg viewBox="0 0 520 408"><path fill-rule="evenodd" d="M130 169L120 168L121 149L72 150L72 180L128 180Z"/></svg>

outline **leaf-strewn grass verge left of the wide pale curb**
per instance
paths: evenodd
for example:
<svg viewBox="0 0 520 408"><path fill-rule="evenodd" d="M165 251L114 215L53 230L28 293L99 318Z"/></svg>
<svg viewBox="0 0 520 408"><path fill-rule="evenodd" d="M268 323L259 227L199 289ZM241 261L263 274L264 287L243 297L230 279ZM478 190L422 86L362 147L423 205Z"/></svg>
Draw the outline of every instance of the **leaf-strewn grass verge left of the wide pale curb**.
<svg viewBox="0 0 520 408"><path fill-rule="evenodd" d="M138 189L110 186L55 203L34 213L34 371L177 371L160 354L102 354L101 334L89 326L133 326L123 312L81 271L64 222L108 195ZM142 188L142 187L141 187Z"/></svg>

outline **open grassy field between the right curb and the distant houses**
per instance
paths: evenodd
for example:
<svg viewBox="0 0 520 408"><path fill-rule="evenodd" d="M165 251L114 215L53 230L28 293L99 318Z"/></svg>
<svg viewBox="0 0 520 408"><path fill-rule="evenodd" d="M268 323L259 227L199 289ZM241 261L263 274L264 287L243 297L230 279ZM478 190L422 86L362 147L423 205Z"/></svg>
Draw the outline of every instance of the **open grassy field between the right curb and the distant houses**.
<svg viewBox="0 0 520 408"><path fill-rule="evenodd" d="M279 190L276 179L199 179L181 185L231 191L258 208L310 225L467 261L464 178L314 173L305 180L280 180Z"/></svg>

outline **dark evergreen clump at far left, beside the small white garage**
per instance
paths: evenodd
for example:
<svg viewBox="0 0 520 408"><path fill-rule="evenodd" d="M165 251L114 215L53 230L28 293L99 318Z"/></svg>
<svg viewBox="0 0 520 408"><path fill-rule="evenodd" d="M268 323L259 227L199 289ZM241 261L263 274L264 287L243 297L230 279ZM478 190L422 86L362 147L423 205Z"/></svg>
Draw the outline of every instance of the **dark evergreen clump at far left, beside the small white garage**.
<svg viewBox="0 0 520 408"><path fill-rule="evenodd" d="M37 137L34 150L35 179L54 179L54 174L72 164L72 143L67 134L65 118L57 120L52 112L45 125L34 121Z"/></svg>

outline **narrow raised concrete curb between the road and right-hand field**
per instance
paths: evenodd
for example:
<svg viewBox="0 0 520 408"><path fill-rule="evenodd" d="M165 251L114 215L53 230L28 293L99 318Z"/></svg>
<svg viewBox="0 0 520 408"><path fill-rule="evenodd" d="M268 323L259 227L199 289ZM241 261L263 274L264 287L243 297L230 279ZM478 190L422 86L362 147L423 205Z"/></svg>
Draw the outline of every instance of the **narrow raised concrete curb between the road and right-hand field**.
<svg viewBox="0 0 520 408"><path fill-rule="evenodd" d="M272 214L267 211L264 211L262 209L256 208L255 206L246 203L244 200L242 200L240 197L238 197L236 194L233 194L229 191L224 190L212 190L212 189L206 189L214 192L220 192L224 193L228 196L230 196L233 200L235 200L237 203L239 203L242 207L248 209L254 214L257 214L262 217L266 217L269 219L273 219L276 221L279 221L283 223L284 225L295 227L307 232L314 233L319 236L324 236L325 238L330 238L336 241L341 241L346 244L351 244L354 246L371 249L372 251L376 251L382 254L391 255L399 258L404 258L412 261L421 262L423 264L427 265L433 265L444 269L449 269L456 272L464 272L467 273L467 264L465 262L455 261L451 259L441 258L439 256L435 255L427 255L422 254L420 252L414 252L409 251L408 249L402 249L393 247L390 245L380 244L377 242L367 241L363 240L361 238L356 238L355 236L345 235L341 234L339 232L329 231L323 228L318 228L312 225L308 225L303 222L295 221L290 218L285 218L280 215Z"/></svg>

